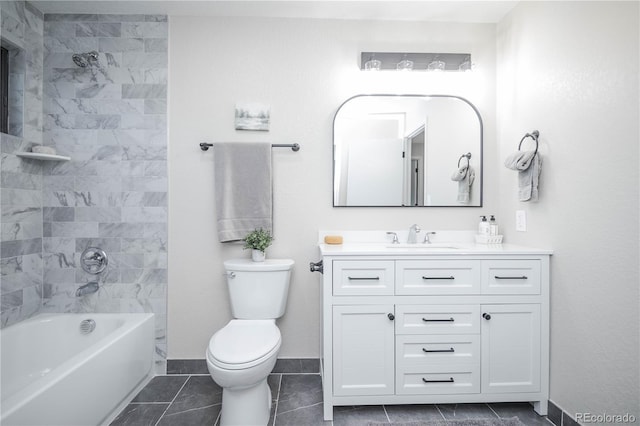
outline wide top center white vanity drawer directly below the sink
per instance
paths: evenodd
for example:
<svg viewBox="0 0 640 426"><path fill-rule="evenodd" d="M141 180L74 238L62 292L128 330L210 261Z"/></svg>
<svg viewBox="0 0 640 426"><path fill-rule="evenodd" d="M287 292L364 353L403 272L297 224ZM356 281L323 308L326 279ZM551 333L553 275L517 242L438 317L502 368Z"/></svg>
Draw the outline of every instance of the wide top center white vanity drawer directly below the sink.
<svg viewBox="0 0 640 426"><path fill-rule="evenodd" d="M399 260L396 294L479 294L479 260Z"/></svg>

